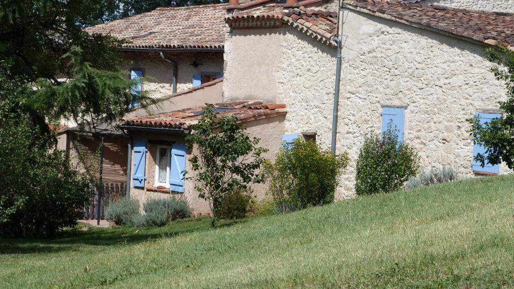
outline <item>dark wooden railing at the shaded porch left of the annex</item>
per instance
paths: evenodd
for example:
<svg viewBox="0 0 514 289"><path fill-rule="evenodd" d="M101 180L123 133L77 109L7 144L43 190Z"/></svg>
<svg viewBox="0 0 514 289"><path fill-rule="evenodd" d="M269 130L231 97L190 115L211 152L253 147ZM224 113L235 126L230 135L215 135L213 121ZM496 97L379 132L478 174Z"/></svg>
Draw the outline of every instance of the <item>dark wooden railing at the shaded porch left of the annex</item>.
<svg viewBox="0 0 514 289"><path fill-rule="evenodd" d="M95 187L93 190L93 196L91 196L91 204L89 207L83 208L81 211L83 213L84 220L98 220L98 188ZM113 202L120 197L125 196L125 184L109 184L104 183L101 188L101 202L100 202L100 219L104 218L104 208L109 202Z"/></svg>

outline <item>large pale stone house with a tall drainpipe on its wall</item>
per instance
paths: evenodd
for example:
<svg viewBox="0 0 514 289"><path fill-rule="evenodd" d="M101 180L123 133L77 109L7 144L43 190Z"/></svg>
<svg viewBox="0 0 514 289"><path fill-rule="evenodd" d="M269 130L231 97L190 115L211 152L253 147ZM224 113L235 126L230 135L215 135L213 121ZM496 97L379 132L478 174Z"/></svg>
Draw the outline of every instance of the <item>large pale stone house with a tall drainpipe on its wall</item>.
<svg viewBox="0 0 514 289"><path fill-rule="evenodd" d="M338 199L354 195L364 136L391 119L423 169L448 164L460 177L509 172L473 162L483 148L474 145L466 119L501 117L505 86L484 49L514 46L514 15L409 2L343 1L339 18L335 1L230 5L223 100L285 103L285 133L315 133L328 148L339 25L337 152L348 152L351 162Z"/></svg>

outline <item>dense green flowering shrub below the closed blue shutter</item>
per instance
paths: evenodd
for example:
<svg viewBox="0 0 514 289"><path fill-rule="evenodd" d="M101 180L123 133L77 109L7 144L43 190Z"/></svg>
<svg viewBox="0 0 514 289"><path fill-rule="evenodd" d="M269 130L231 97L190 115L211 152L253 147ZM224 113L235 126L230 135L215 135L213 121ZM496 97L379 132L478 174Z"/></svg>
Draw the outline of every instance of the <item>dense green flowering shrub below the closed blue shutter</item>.
<svg viewBox="0 0 514 289"><path fill-rule="evenodd" d="M417 152L398 142L398 132L389 123L382 137L365 137L357 158L355 191L358 195L395 191L416 175L418 168Z"/></svg>

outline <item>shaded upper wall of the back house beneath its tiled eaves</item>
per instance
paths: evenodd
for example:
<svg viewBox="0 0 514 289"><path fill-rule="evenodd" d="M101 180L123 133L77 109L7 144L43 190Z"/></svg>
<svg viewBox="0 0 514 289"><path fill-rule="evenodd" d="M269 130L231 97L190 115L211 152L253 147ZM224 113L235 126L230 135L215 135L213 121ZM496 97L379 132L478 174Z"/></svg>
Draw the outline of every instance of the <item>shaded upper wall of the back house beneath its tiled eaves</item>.
<svg viewBox="0 0 514 289"><path fill-rule="evenodd" d="M127 77L131 69L142 69L143 90L151 97L162 97L173 93L173 64L160 58L159 52L124 52L130 64L123 67ZM202 72L223 73L223 52L164 52L168 59L178 64L177 92L193 87L193 74ZM196 61L198 67L191 65Z"/></svg>

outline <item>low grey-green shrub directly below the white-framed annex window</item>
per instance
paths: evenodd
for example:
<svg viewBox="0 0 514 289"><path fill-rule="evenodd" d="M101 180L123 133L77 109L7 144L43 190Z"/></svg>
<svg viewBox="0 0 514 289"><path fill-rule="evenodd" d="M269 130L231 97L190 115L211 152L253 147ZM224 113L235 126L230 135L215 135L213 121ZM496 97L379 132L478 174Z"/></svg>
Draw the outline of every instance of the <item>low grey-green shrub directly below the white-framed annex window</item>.
<svg viewBox="0 0 514 289"><path fill-rule="evenodd" d="M144 214L134 220L136 227L163 226L176 219L188 218L191 214L186 200L178 197L149 200L144 203L143 210Z"/></svg>

